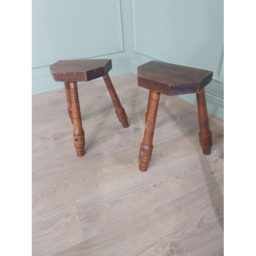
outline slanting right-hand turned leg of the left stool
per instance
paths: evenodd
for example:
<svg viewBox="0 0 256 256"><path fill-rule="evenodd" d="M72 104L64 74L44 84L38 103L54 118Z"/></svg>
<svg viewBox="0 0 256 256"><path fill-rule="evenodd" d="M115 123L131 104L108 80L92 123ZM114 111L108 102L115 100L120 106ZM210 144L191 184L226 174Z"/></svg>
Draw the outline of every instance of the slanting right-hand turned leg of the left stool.
<svg viewBox="0 0 256 256"><path fill-rule="evenodd" d="M122 107L121 102L116 94L116 90L112 84L109 74L106 74L105 76L103 76L103 79L105 81L106 87L109 90L110 97L113 101L118 120L122 123L124 128L129 127L129 123L127 121L127 116L126 116L125 110Z"/></svg>

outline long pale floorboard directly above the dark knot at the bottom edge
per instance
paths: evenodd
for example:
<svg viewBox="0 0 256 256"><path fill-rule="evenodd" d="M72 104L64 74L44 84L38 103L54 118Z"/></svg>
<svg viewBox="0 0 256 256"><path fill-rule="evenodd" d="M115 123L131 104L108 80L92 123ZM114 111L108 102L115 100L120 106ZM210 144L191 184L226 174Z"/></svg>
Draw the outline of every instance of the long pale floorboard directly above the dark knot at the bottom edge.
<svg viewBox="0 0 256 256"><path fill-rule="evenodd" d="M209 188L214 189L215 205L207 200ZM84 255L85 251L89 255L155 255L163 240L164 244L173 246L170 255L172 252L173 255L182 255L222 232L221 224L216 219L200 226L206 212L222 203L222 194L212 182L178 200L163 202L156 207L152 205L150 212L145 211L129 222L122 220L119 228L105 230L59 255L71 255L72 251L76 251L76 255ZM216 218L221 219L222 216ZM120 223L120 219L116 221Z"/></svg>

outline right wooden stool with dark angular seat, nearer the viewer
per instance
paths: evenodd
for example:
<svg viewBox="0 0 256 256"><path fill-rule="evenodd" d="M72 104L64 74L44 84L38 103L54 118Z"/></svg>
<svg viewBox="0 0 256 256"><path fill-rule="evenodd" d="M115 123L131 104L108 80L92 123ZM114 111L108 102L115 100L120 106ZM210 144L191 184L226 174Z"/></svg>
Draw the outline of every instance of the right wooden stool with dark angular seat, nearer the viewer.
<svg viewBox="0 0 256 256"><path fill-rule="evenodd" d="M147 170L153 151L153 135L160 94L181 95L197 94L199 117L199 140L204 155L210 155L211 131L209 129L204 87L211 82L212 72L174 65L159 61L150 61L138 67L138 86L150 90L147 112L145 115L145 132L140 145L139 169Z"/></svg>

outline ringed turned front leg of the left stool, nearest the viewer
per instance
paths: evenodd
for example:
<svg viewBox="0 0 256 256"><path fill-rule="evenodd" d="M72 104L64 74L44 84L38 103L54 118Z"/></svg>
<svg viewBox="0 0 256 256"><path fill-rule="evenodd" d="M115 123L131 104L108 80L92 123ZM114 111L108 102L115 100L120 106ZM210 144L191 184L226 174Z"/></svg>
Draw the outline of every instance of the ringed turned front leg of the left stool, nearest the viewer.
<svg viewBox="0 0 256 256"><path fill-rule="evenodd" d="M81 157L84 155L84 145L86 144L86 141L84 139L84 131L82 129L81 112L76 82L70 82L70 94L74 124L74 145L76 147L77 156Z"/></svg>

